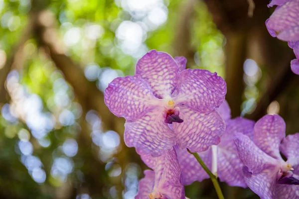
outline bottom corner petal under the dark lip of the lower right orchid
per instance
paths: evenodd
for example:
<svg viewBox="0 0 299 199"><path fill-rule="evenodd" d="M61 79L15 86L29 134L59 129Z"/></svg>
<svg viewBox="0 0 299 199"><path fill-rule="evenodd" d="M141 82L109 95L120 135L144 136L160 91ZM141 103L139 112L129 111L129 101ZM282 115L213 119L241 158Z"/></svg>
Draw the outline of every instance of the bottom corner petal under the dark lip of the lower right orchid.
<svg viewBox="0 0 299 199"><path fill-rule="evenodd" d="M299 186L276 185L275 196L277 199L299 199Z"/></svg>

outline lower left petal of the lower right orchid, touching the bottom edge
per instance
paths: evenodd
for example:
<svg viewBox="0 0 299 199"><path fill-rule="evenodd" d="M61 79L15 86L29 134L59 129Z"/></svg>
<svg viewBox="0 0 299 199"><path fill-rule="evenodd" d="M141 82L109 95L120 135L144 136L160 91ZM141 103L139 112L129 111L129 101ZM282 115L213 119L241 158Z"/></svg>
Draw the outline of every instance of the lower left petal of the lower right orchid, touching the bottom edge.
<svg viewBox="0 0 299 199"><path fill-rule="evenodd" d="M247 186L261 199L275 199L276 177L279 169L269 165L258 174L253 174L248 167L243 167L244 179Z"/></svg>

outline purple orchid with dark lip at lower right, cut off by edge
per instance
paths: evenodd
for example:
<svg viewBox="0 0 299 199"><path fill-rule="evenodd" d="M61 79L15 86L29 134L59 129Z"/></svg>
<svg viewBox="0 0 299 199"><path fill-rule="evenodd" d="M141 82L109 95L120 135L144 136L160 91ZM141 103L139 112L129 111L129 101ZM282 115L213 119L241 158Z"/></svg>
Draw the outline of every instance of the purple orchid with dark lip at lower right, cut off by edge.
<svg viewBox="0 0 299 199"><path fill-rule="evenodd" d="M266 115L254 126L253 140L235 134L245 182L261 199L299 199L299 133L285 138L285 130L281 116Z"/></svg>

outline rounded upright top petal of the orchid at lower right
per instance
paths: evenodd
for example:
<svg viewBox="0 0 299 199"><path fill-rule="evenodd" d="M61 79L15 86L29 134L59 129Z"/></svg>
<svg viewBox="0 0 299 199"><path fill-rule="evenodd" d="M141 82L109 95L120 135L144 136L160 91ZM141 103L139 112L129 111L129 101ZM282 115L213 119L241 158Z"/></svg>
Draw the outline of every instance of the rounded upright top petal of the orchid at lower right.
<svg viewBox="0 0 299 199"><path fill-rule="evenodd" d="M254 126L254 143L268 155L282 160L279 145L286 136L286 123L277 115L265 115Z"/></svg>

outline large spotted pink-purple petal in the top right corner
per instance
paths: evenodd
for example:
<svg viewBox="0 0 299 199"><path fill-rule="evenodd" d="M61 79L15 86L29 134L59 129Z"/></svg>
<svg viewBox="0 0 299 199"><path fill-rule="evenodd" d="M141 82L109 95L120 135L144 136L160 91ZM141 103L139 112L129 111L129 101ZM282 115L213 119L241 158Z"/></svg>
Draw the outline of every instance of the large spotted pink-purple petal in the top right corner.
<svg viewBox="0 0 299 199"><path fill-rule="evenodd" d="M270 16L267 27L278 32L285 41L299 40L299 1L290 0L278 7Z"/></svg>

